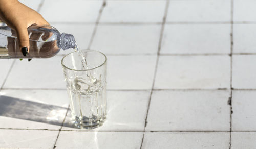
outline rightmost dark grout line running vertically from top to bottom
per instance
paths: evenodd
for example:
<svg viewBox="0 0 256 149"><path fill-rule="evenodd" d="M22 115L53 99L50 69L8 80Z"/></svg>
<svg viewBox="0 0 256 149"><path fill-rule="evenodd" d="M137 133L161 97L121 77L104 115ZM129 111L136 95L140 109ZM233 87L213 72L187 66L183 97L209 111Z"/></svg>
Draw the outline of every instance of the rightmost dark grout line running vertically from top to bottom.
<svg viewBox="0 0 256 149"><path fill-rule="evenodd" d="M233 76L233 16L234 16L234 0L230 0L231 2L231 11L230 11L230 97L228 100L228 104L230 105L230 130L229 130L229 149L231 149L231 134L232 134L232 76Z"/></svg>

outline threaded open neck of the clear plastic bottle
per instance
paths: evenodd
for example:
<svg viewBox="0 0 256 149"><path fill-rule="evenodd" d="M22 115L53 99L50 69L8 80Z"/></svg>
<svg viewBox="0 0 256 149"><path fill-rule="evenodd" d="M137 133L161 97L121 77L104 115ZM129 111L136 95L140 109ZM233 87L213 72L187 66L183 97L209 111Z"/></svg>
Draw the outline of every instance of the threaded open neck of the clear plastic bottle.
<svg viewBox="0 0 256 149"><path fill-rule="evenodd" d="M75 37L71 34L62 33L59 39L59 47L62 49L75 48Z"/></svg>

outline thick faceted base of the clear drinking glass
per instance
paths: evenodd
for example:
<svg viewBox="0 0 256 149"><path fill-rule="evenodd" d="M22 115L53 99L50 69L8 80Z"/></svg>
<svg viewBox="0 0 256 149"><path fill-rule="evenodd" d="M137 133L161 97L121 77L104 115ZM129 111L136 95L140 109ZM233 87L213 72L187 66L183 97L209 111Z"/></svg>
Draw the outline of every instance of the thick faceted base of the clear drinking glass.
<svg viewBox="0 0 256 149"><path fill-rule="evenodd" d="M73 122L74 125L79 129L94 129L102 126L105 120L106 117L96 117L93 115L91 118L86 116L83 116L82 119L75 117Z"/></svg>

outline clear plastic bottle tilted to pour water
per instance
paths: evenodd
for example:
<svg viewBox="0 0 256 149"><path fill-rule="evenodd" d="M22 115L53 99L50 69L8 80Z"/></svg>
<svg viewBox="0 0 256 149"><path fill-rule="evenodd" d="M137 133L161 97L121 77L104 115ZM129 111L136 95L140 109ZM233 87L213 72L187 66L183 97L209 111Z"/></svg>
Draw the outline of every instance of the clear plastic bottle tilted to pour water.
<svg viewBox="0 0 256 149"><path fill-rule="evenodd" d="M75 38L71 34L60 34L52 26L30 26L29 53L25 57L19 48L16 32L8 26L0 26L0 58L50 58L60 48L75 48Z"/></svg>

